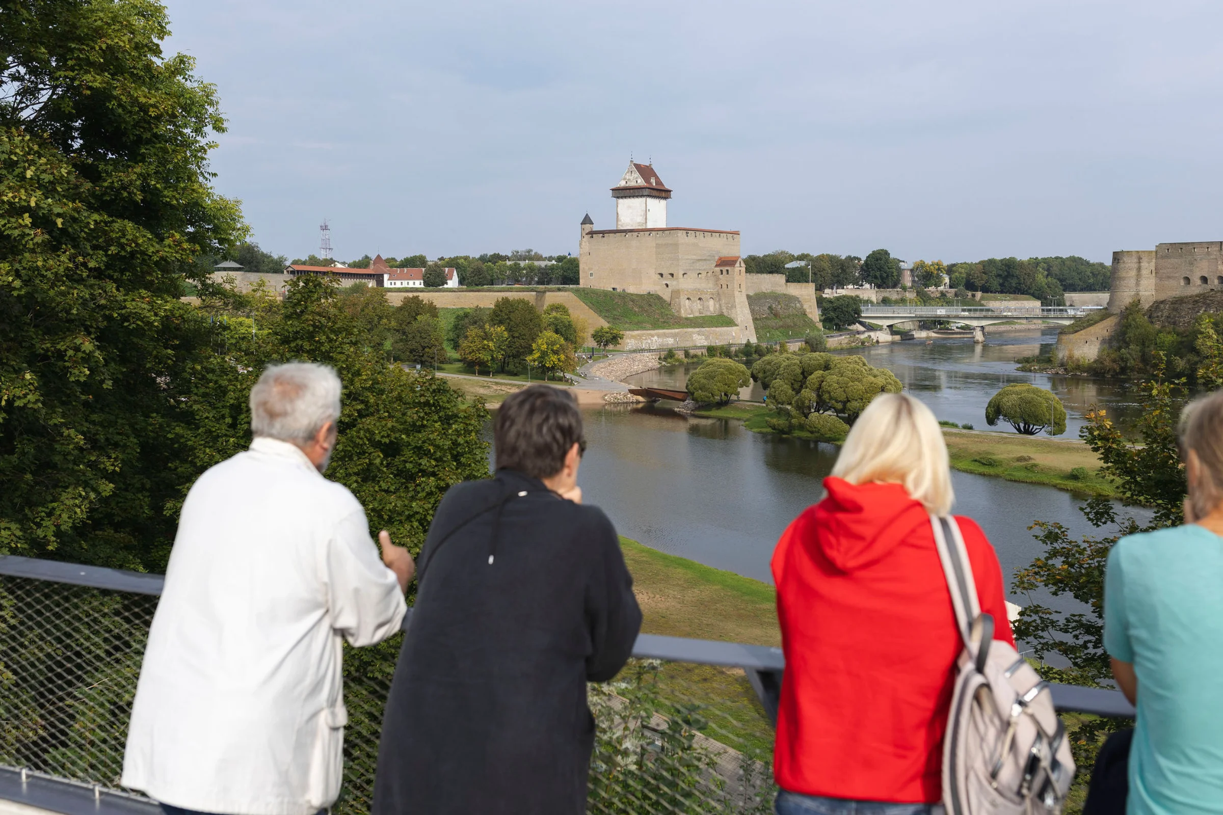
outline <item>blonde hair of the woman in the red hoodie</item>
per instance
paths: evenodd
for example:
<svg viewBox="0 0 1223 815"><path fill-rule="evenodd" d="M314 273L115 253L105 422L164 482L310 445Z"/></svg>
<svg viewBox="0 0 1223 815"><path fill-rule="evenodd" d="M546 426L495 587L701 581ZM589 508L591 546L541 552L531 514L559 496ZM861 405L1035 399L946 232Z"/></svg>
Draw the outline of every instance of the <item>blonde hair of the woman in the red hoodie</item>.
<svg viewBox="0 0 1223 815"><path fill-rule="evenodd" d="M943 433L929 408L907 393L879 393L854 423L833 475L850 484L901 484L928 512L955 502Z"/></svg>

